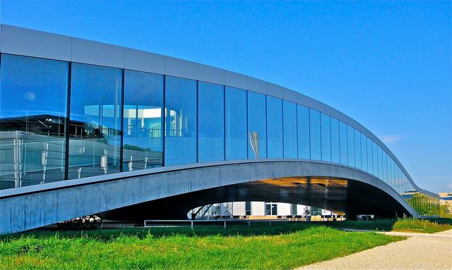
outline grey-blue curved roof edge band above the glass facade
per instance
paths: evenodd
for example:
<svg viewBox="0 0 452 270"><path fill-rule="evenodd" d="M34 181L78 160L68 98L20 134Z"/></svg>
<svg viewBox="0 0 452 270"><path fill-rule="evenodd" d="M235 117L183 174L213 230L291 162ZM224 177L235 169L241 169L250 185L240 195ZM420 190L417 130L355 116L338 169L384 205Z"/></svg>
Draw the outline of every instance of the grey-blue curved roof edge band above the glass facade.
<svg viewBox="0 0 452 270"><path fill-rule="evenodd" d="M396 162L418 191L439 197L433 192L419 188L391 150L363 125L327 104L271 82L170 56L11 25L0 25L0 52L201 80L295 102L326 113L366 135ZM0 191L0 197L2 193L4 191Z"/></svg>

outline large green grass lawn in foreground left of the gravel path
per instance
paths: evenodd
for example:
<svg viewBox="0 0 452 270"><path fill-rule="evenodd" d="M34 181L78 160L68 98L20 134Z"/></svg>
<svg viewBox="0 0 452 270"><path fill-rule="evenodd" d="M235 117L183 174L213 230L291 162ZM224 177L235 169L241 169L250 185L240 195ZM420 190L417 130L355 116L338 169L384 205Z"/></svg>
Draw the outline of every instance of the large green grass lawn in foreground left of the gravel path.
<svg viewBox="0 0 452 270"><path fill-rule="evenodd" d="M33 231L0 238L0 269L294 269L402 239L307 223Z"/></svg>

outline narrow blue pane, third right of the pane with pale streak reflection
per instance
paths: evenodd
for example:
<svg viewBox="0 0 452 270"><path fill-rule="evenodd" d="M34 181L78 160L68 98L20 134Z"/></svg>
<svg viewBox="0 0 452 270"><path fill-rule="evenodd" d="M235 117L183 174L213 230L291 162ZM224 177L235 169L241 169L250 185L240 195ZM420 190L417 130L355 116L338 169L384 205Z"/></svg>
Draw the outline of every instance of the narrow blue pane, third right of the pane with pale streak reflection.
<svg viewBox="0 0 452 270"><path fill-rule="evenodd" d="M298 129L298 158L310 159L309 149L309 109L297 105L297 129Z"/></svg>

